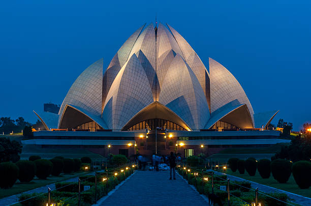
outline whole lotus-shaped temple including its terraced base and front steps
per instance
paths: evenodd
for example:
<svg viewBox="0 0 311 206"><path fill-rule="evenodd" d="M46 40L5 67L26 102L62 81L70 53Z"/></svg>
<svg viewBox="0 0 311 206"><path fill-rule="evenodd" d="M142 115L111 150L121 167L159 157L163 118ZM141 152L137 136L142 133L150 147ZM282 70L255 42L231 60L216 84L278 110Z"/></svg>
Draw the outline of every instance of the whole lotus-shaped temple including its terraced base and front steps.
<svg viewBox="0 0 311 206"><path fill-rule="evenodd" d="M34 111L45 128L23 143L104 156L189 156L287 141L269 127L278 110L254 113L227 68L212 58L204 65L168 24L141 26L103 64L78 76L58 114Z"/></svg>

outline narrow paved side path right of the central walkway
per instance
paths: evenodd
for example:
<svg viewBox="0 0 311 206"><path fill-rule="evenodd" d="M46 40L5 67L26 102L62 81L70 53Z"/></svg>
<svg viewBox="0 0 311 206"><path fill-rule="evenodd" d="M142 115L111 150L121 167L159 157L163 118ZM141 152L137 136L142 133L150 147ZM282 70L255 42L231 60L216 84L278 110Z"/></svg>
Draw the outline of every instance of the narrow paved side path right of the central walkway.
<svg viewBox="0 0 311 206"><path fill-rule="evenodd" d="M220 173L219 171L214 171L214 173L216 175L227 175L227 174L224 174L224 173ZM294 194L294 193L287 192L287 191L284 191L284 190L276 189L274 187L269 187L269 186L262 185L262 184L259 184L259 183L256 183L256 182L252 182L250 180L245 180L245 179L242 179L242 178L238 178L238 177L235 177L235 176L232 176L232 175L227 175L227 177L230 178L230 180L233 180L233 181L247 181L247 182L250 182L250 183L252 183L252 188L257 188L258 187L259 191L262 191L262 192L265 192L265 193L272 193L272 192L285 193L285 194L288 195L288 197L291 199L291 201L293 201L293 202L295 202L297 204L300 204L300 205L303 205L303 206L310 206L311 205L311 198L309 198L309 197L304 197L304 196L301 196L301 195L298 195L298 194Z"/></svg>

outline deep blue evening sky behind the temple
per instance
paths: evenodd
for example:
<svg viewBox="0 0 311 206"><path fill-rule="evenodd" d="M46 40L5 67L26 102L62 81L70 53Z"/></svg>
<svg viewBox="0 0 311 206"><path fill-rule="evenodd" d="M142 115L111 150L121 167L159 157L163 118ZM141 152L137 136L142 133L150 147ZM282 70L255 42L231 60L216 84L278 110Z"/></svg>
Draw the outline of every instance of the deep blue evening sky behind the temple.
<svg viewBox="0 0 311 206"><path fill-rule="evenodd" d="M36 122L33 110L61 104L92 62L107 67L142 24L173 26L208 67L222 63L255 113L280 110L299 130L311 122L309 1L3 1L0 116Z"/></svg>

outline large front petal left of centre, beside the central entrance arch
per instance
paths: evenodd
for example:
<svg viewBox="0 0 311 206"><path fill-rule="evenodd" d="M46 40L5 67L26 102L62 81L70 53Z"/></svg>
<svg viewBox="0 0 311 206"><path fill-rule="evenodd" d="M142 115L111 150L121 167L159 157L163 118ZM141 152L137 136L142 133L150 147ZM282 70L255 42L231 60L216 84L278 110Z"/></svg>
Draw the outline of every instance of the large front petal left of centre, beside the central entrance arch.
<svg viewBox="0 0 311 206"><path fill-rule="evenodd" d="M133 54L111 85L103 118L109 128L121 129L135 114L152 102L147 75Z"/></svg>

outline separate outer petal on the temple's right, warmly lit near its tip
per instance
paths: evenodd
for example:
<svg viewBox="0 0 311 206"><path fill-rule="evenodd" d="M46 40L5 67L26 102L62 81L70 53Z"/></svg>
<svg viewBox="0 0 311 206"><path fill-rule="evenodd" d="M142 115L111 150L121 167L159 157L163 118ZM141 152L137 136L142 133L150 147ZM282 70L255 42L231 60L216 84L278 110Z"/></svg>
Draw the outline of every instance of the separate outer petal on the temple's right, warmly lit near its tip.
<svg viewBox="0 0 311 206"><path fill-rule="evenodd" d="M209 58L209 72L211 112L214 112L234 99L238 99L240 104L246 104L254 126L254 111L251 102L248 100L243 88L235 77L223 65L212 58Z"/></svg>

